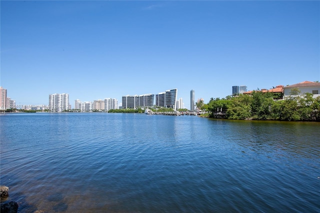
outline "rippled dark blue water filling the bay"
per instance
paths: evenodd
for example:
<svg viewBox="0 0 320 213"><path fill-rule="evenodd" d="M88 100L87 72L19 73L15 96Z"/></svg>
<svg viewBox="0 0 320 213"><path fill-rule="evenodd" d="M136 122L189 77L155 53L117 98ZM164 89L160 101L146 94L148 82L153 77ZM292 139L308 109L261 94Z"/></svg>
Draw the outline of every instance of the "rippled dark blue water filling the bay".
<svg viewBox="0 0 320 213"><path fill-rule="evenodd" d="M0 116L19 212L319 212L320 123L133 113Z"/></svg>

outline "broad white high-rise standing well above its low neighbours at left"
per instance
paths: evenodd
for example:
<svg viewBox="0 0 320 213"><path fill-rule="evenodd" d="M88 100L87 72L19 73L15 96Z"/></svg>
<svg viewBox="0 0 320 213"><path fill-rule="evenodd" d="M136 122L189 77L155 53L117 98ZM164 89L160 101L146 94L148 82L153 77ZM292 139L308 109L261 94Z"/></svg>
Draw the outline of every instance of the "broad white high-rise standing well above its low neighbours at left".
<svg viewBox="0 0 320 213"><path fill-rule="evenodd" d="M49 94L49 111L61 112L69 109L69 94Z"/></svg>

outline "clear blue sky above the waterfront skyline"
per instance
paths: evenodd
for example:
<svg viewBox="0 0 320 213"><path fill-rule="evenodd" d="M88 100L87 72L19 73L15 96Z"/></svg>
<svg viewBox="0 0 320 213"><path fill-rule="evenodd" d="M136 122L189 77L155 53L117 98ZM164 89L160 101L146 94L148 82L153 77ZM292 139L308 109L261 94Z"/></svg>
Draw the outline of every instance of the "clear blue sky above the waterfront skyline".
<svg viewBox="0 0 320 213"><path fill-rule="evenodd" d="M0 1L16 104L178 89L195 98L320 80L319 1Z"/></svg>

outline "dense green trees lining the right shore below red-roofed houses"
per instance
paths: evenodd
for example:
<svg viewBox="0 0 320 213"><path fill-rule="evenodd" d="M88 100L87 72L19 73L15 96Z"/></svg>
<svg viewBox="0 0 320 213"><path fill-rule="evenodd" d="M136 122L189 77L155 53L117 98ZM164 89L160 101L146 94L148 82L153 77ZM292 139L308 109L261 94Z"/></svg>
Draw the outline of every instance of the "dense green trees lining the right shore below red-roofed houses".
<svg viewBox="0 0 320 213"><path fill-rule="evenodd" d="M298 89L292 89L290 96L276 101L270 92L261 91L211 98L207 110L211 117L223 114L229 119L320 121L320 96L313 98L311 93L298 94Z"/></svg>

